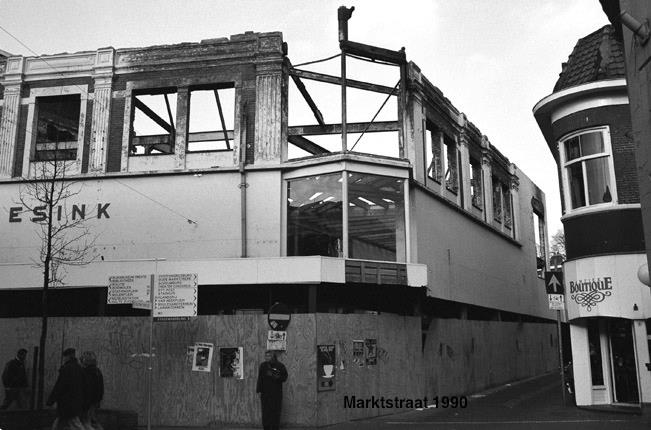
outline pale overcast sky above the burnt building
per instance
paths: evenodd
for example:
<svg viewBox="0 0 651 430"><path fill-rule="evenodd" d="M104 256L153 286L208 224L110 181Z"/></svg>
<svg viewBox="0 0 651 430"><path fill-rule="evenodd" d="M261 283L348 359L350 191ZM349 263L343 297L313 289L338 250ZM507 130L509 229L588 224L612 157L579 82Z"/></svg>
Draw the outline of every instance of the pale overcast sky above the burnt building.
<svg viewBox="0 0 651 430"><path fill-rule="evenodd" d="M549 235L562 228L556 166L532 108L552 92L576 41L608 23L597 0L0 0L0 49L31 56L281 31L299 64L338 53L341 5L355 6L349 39L405 47L407 59L545 192ZM337 61L320 67L338 74ZM353 67L351 75L387 86L397 80L395 71ZM370 120L382 98L359 119ZM336 106L338 98L323 103Z"/></svg>

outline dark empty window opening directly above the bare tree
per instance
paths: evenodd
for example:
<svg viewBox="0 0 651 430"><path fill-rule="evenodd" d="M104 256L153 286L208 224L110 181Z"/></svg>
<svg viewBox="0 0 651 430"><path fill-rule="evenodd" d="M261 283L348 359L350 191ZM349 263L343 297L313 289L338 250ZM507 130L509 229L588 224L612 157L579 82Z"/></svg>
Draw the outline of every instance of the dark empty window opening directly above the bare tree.
<svg viewBox="0 0 651 430"><path fill-rule="evenodd" d="M37 97L34 160L75 160L79 138L79 94Z"/></svg>

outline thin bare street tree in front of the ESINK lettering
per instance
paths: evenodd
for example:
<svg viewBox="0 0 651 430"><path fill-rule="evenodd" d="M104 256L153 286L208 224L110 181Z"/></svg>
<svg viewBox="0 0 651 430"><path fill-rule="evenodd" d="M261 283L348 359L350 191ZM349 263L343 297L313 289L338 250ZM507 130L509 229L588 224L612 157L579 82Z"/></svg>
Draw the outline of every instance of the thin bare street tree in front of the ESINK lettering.
<svg viewBox="0 0 651 430"><path fill-rule="evenodd" d="M57 145L58 147L58 145ZM96 237L85 224L87 214L73 207L70 199L81 192L82 184L66 178L72 162L57 160L58 148L52 160L33 163L36 171L20 187L19 200L30 220L38 224L40 254L34 263L43 270L41 296L42 325L39 343L37 408L43 407L45 374L45 345L48 331L48 290L64 284L65 267L90 263L94 258Z"/></svg>

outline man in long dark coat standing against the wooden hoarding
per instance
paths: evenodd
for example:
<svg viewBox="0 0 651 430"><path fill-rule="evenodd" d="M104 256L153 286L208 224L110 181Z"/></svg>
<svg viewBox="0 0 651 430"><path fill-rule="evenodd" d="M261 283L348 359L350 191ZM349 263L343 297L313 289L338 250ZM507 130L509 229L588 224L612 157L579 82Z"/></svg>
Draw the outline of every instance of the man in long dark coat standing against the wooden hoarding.
<svg viewBox="0 0 651 430"><path fill-rule="evenodd" d="M277 430L280 428L283 382L287 380L287 369L273 351L265 352L264 359L258 370L255 391L260 393L262 402L262 427L264 430Z"/></svg>

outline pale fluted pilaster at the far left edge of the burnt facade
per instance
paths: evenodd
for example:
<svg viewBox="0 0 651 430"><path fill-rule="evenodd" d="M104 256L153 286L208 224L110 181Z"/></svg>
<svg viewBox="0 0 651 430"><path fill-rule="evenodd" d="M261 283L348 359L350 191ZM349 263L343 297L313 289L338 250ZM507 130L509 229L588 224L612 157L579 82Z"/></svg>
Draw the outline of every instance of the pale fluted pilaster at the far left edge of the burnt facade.
<svg viewBox="0 0 651 430"><path fill-rule="evenodd" d="M0 118L0 178L13 176L14 152L16 150L18 121L20 119L20 91L23 67L23 57L12 57L7 60L3 82L5 92L2 118Z"/></svg>

